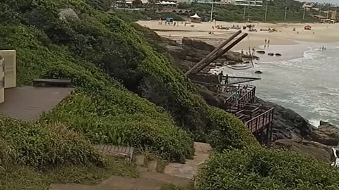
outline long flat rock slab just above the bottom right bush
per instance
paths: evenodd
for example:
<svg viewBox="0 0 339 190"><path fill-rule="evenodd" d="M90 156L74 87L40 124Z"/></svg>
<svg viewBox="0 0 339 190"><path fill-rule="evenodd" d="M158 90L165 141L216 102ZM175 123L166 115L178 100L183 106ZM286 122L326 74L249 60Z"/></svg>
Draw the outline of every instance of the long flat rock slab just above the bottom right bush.
<svg viewBox="0 0 339 190"><path fill-rule="evenodd" d="M330 146L325 146L312 141L294 141L290 139L279 139L274 142L275 145L287 148L293 151L307 154L326 163L331 163L334 159L333 151Z"/></svg>

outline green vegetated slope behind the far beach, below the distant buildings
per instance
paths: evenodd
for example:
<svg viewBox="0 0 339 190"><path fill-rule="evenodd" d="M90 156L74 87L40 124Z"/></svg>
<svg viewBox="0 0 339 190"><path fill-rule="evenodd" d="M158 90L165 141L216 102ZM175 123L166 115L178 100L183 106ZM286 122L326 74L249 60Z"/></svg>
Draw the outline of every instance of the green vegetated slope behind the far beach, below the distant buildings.
<svg viewBox="0 0 339 190"><path fill-rule="evenodd" d="M285 3L286 2L286 3ZM228 5L215 5L214 15L215 20L228 21L228 22L244 22L246 20L263 22L266 12L266 2L264 6L247 6L244 18L244 6ZM292 23L313 23L316 19L311 16L311 11L306 11L305 19L302 20L304 9L303 3L295 0L276 0L267 2L267 17L266 22L292 22ZM203 18L210 18L210 4L192 4L189 8L202 13L203 11L209 12L203 14ZM186 7L186 6L184 6ZM287 8L286 20L285 7Z"/></svg>

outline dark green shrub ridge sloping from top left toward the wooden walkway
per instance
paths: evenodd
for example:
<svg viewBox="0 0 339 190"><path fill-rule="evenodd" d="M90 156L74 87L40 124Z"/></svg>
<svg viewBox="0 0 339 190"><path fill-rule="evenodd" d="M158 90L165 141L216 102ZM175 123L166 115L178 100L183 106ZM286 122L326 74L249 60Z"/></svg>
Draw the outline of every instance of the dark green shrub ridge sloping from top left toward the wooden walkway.
<svg viewBox="0 0 339 190"><path fill-rule="evenodd" d="M166 56L157 53L154 46L150 46L145 37L139 35L129 24L124 23L114 15L94 11L87 4L83 4L83 1L68 1L69 4L66 4L66 2L63 4L54 2L52 4L47 0L39 2L40 6L33 6L32 10L48 11L52 8L54 11L51 12L57 12L58 6L69 6L79 13L78 16L81 20L64 22L59 20L55 14L41 14L40 19L49 20L42 22L46 23L45 25L30 20L28 17L22 18L25 23L44 31L50 42L59 46L67 46L67 50L72 53L76 60L94 63L110 77L120 80L127 89L137 92L148 100L152 101L153 97L147 96L146 93L143 93L144 91L150 93L156 91L157 94L162 94L162 97L160 97L162 101L153 102L169 111L174 117L176 125L192 132L196 140L206 141L206 135L213 131L217 132L216 134L222 134L226 139L239 139L228 141L230 144L223 144L225 148L253 144L254 137L248 131L242 129L244 125L237 122L236 118L229 117L228 113L220 111L218 113L220 116L217 118L220 121L211 118L215 110L210 109L203 99L196 95L191 82L181 71L173 67ZM41 2L44 2L44 4L41 4ZM45 40L44 37L41 37L41 39L42 42L48 44L48 40ZM67 53L66 50L64 51ZM66 68L64 66L67 64L60 62L59 65L64 67L63 72L71 73L73 77L78 75L76 72L69 72L69 66ZM55 67L59 67L59 65ZM54 67L51 70L53 69ZM60 71L60 69L57 70L57 72ZM72 70L76 70L76 68L72 68ZM61 75L52 75L52 72L49 72L49 74L51 74L49 76L62 77ZM91 78L87 74L84 76L87 77L87 80L82 79L82 84L88 83ZM28 76L25 76L25 79L27 78ZM79 80L79 78L76 80ZM102 79L98 81L101 82ZM86 85L86 88L92 89L92 84L97 86L97 83L90 82L89 84ZM154 87L157 87L157 89ZM101 92L102 90L98 91ZM230 120L225 120L225 118ZM231 123L237 125L230 125ZM218 133L220 130L223 130L223 132Z"/></svg>

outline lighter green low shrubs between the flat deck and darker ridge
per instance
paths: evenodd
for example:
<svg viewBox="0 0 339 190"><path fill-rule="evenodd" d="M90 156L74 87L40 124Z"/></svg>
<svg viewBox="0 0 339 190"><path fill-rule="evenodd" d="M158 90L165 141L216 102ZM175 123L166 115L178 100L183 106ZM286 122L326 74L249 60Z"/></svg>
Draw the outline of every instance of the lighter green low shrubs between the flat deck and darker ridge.
<svg viewBox="0 0 339 190"><path fill-rule="evenodd" d="M61 122L83 132L93 143L147 146L170 160L192 156L193 141L168 113L129 93L92 63L77 61L61 47L44 46L41 41L46 37L33 27L3 27L0 36L6 36L0 40L4 48L18 50L19 84L53 77L69 78L78 87L43 122Z"/></svg>

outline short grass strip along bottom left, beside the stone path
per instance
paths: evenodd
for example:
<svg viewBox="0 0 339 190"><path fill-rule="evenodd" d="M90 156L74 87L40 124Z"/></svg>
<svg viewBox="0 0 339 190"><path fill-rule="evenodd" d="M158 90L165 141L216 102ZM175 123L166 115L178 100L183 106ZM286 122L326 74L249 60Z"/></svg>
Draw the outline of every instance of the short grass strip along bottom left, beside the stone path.
<svg viewBox="0 0 339 190"><path fill-rule="evenodd" d="M36 170L22 165L5 165L0 169L0 189L42 190L53 183L96 184L111 175L137 177L136 167L124 160L105 158L105 168L95 165L64 165L47 170Z"/></svg>

